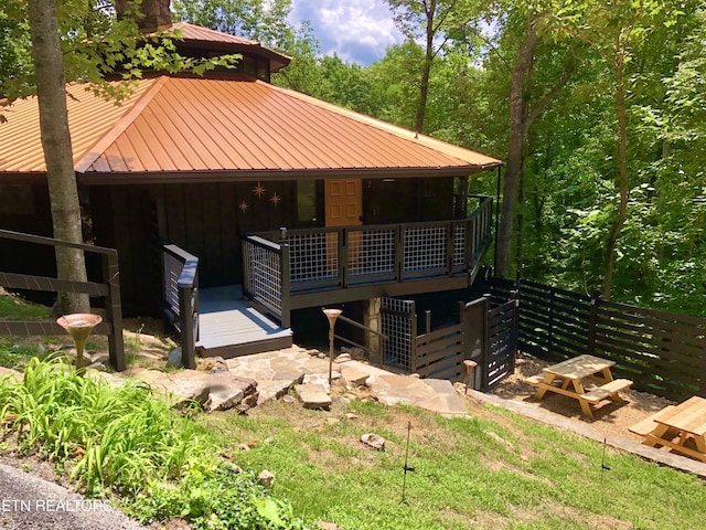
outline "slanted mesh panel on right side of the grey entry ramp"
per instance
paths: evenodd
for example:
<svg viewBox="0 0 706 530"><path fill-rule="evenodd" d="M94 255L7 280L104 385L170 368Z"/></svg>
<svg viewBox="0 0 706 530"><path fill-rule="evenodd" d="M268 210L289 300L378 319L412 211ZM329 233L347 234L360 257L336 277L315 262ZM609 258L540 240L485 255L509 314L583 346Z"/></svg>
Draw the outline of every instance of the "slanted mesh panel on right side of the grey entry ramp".
<svg viewBox="0 0 706 530"><path fill-rule="evenodd" d="M243 242L243 253L248 268L246 289L254 300L271 310L282 314L281 257L278 252Z"/></svg>

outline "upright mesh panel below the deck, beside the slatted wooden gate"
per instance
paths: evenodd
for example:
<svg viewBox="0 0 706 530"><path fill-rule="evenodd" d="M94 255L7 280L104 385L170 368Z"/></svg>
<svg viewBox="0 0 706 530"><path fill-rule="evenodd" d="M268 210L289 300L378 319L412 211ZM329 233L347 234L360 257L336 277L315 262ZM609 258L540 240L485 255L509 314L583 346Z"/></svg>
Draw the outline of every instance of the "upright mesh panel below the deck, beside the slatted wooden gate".
<svg viewBox="0 0 706 530"><path fill-rule="evenodd" d="M382 299L383 333L387 337L383 362L386 365L411 370L411 350L417 331L414 329L414 315L415 303L413 300Z"/></svg>

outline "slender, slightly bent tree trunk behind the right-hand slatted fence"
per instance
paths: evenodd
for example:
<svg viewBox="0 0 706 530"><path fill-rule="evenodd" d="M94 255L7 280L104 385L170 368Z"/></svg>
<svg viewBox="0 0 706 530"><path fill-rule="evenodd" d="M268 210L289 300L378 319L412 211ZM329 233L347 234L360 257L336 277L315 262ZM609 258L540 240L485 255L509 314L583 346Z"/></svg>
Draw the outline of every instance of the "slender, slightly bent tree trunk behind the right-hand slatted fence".
<svg viewBox="0 0 706 530"><path fill-rule="evenodd" d="M625 87L622 77L622 61L617 59L616 103L618 106L618 187L620 190L620 202L618 204L618 215L616 216L606 244L606 277L603 279L603 299L606 300L610 300L613 288L616 248L618 247L618 237L620 237L628 215L628 118L625 114Z"/></svg>

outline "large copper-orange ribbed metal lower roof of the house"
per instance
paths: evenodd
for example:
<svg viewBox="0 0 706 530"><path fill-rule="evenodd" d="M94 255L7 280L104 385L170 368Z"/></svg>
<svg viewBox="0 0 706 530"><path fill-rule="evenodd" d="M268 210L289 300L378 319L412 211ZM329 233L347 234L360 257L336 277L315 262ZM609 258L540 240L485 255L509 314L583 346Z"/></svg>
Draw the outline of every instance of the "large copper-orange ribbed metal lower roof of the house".
<svg viewBox="0 0 706 530"><path fill-rule="evenodd" d="M261 81L161 75L116 106L67 87L88 183L466 174L501 162ZM2 173L45 171L35 98L3 109Z"/></svg>

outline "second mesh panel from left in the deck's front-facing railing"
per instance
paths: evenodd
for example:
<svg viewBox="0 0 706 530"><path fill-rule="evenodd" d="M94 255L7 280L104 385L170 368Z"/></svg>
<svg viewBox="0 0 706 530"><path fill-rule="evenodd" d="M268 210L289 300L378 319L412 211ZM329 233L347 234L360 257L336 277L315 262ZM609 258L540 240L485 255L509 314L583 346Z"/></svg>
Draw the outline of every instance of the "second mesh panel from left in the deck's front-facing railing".
<svg viewBox="0 0 706 530"><path fill-rule="evenodd" d="M374 276L395 273L395 230L349 231L349 274Z"/></svg>

